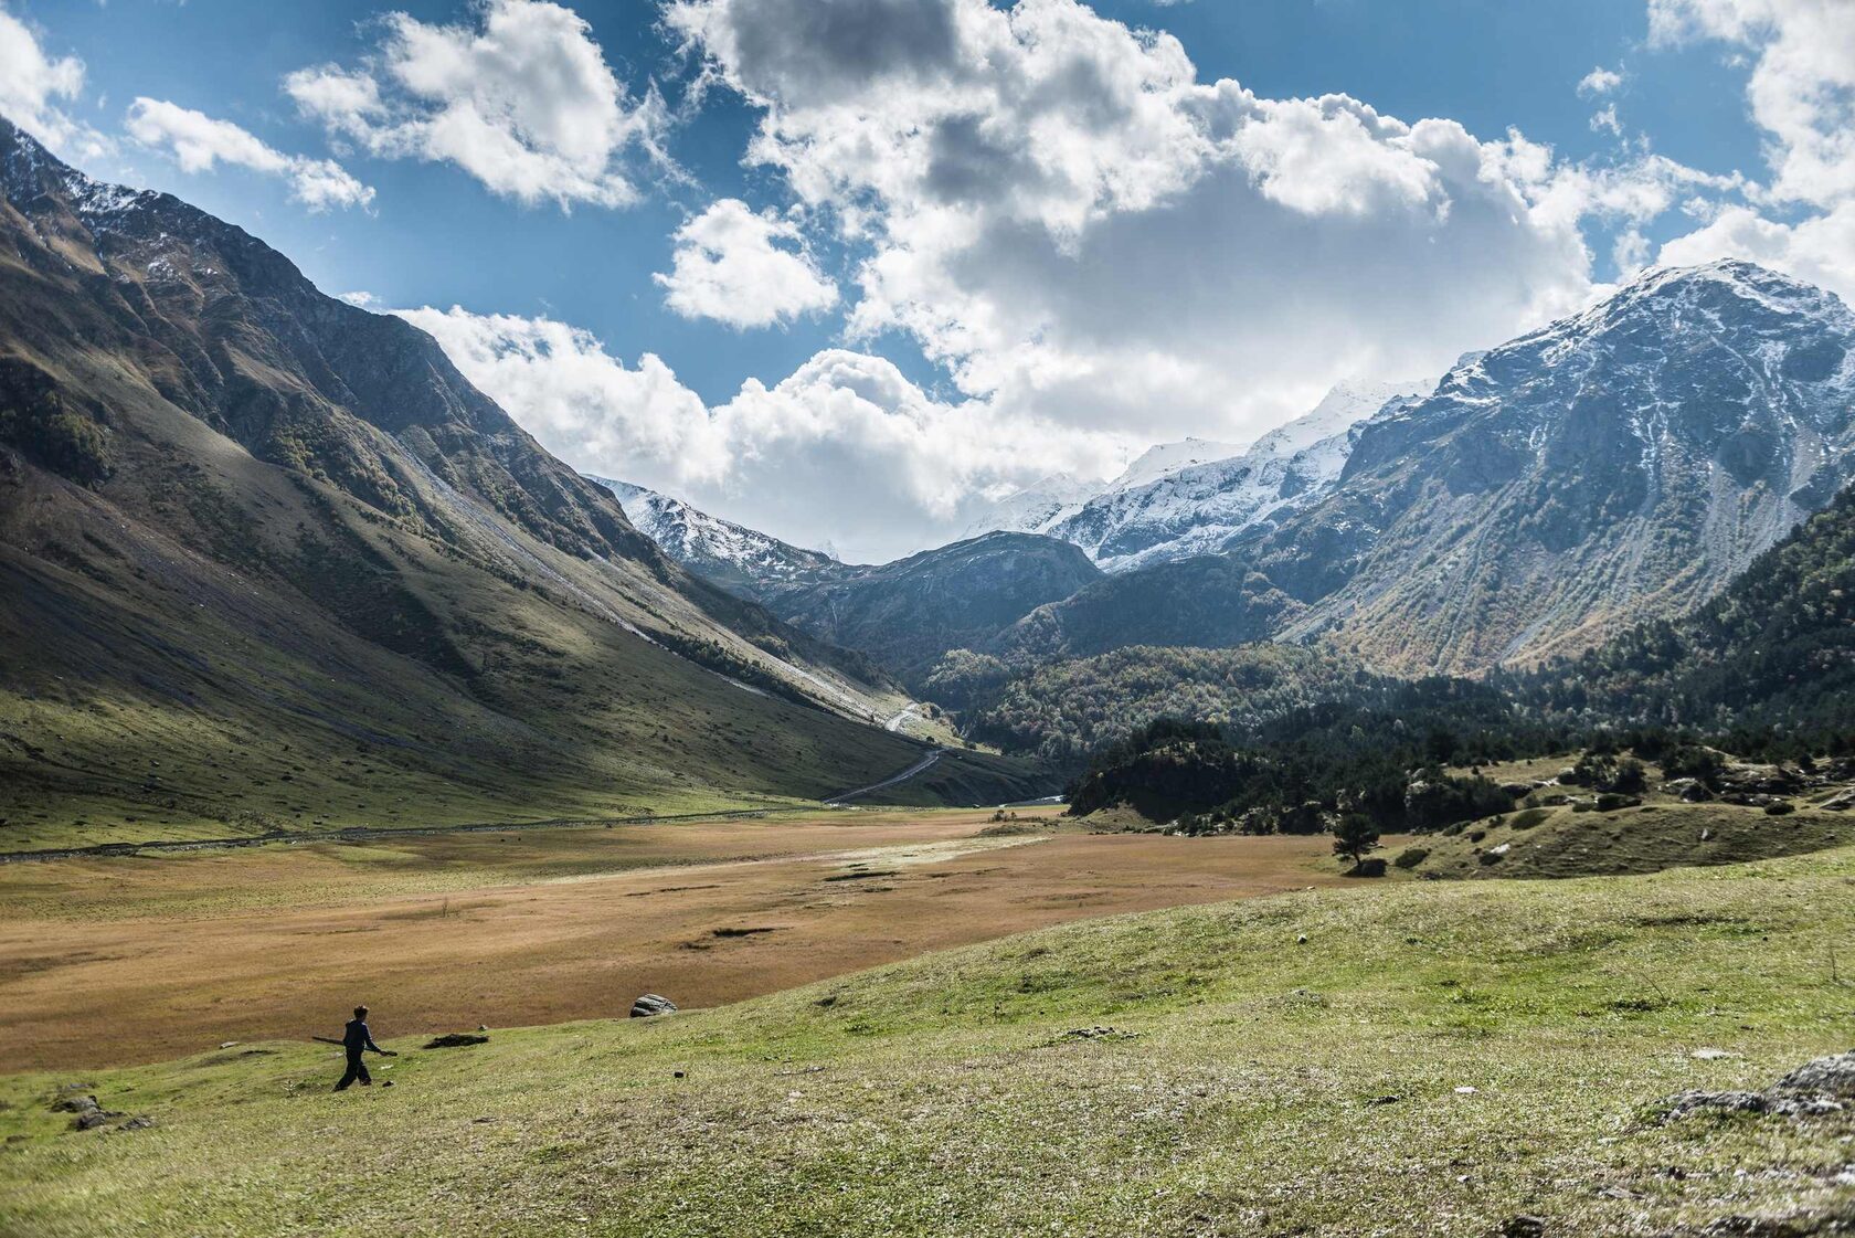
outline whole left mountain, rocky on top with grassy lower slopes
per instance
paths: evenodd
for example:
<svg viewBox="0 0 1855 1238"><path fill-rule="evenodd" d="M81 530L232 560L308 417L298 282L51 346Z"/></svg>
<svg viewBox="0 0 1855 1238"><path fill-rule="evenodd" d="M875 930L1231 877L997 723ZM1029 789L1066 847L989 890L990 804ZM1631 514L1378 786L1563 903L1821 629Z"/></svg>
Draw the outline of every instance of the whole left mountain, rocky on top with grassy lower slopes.
<svg viewBox="0 0 1855 1238"><path fill-rule="evenodd" d="M0 850L824 796L905 698L423 332L0 121Z"/></svg>

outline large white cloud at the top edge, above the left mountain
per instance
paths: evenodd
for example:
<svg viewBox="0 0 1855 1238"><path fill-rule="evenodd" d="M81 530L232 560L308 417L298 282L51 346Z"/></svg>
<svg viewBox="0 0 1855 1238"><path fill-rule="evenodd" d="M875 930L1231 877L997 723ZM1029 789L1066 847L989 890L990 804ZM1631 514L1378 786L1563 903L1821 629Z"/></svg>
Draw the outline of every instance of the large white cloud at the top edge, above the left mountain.
<svg viewBox="0 0 1855 1238"><path fill-rule="evenodd" d="M360 67L284 80L297 108L380 158L447 161L521 202L623 206L633 147L659 154L662 102L627 97L592 30L545 0L484 0L473 22L406 13Z"/></svg>

